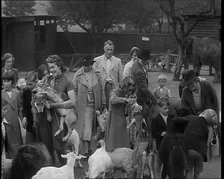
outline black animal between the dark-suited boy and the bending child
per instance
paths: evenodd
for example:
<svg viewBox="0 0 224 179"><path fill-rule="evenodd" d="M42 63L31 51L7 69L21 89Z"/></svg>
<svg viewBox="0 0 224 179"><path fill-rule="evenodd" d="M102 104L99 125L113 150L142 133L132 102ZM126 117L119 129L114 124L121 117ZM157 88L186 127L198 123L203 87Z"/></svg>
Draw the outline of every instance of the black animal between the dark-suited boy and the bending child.
<svg viewBox="0 0 224 179"><path fill-rule="evenodd" d="M188 122L184 117L175 117L167 128L159 147L159 157L163 163L162 179L167 175L172 179L185 178L187 146L183 133Z"/></svg>

